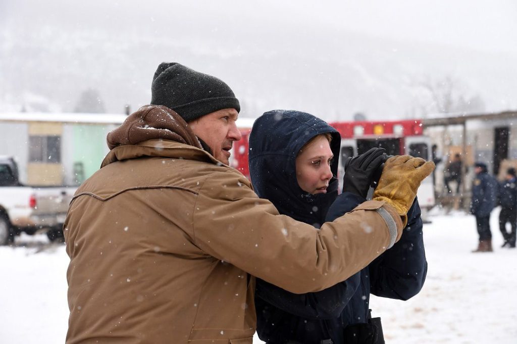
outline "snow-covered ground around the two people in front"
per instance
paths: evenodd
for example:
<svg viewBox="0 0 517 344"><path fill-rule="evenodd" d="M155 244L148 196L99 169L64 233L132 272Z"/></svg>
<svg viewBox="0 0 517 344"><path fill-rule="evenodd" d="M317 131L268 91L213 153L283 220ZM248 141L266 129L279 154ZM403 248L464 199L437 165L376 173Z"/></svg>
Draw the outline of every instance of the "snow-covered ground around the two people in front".
<svg viewBox="0 0 517 344"><path fill-rule="evenodd" d="M470 252L477 245L474 217L431 214L424 225L429 272L420 294L407 302L372 296L388 344L517 342L517 250L499 248L498 212L491 218L493 253ZM62 343L65 247L45 236L22 236L16 244L0 247L0 343Z"/></svg>

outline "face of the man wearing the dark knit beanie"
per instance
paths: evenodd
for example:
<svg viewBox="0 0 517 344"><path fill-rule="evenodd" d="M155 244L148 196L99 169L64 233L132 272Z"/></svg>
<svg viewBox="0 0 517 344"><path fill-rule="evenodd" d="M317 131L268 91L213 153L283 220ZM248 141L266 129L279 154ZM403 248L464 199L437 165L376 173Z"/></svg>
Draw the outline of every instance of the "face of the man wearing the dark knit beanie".
<svg viewBox="0 0 517 344"><path fill-rule="evenodd" d="M214 157L224 164L229 163L233 141L242 138L235 124L238 115L235 109L222 109L189 122L195 136L203 140Z"/></svg>

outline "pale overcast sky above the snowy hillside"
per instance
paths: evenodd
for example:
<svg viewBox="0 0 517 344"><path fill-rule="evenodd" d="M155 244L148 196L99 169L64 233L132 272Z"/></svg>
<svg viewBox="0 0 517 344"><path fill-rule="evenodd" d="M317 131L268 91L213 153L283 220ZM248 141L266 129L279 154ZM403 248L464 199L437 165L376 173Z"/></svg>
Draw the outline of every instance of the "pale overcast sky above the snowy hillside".
<svg viewBox="0 0 517 344"><path fill-rule="evenodd" d="M347 29L377 37L437 42L481 50L517 52L514 0L370 1L104 1L2 0L2 22L32 26L102 27L113 33L138 27L144 32L197 27L239 36L271 25ZM221 43L224 37L220 37Z"/></svg>

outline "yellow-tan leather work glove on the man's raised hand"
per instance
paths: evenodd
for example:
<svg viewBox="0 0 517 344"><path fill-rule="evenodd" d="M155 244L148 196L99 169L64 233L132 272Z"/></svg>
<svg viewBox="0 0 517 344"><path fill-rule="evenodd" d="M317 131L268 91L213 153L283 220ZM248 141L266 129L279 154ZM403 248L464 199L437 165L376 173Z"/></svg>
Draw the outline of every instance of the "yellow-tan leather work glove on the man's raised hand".
<svg viewBox="0 0 517 344"><path fill-rule="evenodd" d="M385 201L397 210L404 227L407 212L417 196L417 190L425 177L434 170L434 162L410 155L396 155L386 160L379 184L373 192L373 200Z"/></svg>

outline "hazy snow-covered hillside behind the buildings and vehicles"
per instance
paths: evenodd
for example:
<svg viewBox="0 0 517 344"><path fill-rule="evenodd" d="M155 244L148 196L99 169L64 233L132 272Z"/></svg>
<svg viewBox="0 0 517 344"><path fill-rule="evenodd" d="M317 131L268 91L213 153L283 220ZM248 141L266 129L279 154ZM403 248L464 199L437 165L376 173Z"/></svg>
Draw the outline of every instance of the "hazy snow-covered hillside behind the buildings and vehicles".
<svg viewBox="0 0 517 344"><path fill-rule="evenodd" d="M517 108L515 52L379 38L325 17L296 20L285 8L254 17L250 7L235 17L219 8L181 12L187 5L160 13L101 2L28 2L7 0L0 14L0 112L35 97L48 108L72 111L87 88L99 91L107 112L123 112L127 103L134 110L149 102L162 61L219 76L250 117L277 108L328 121L357 112L371 119L418 117L432 102L419 84L447 76L458 93L479 96L488 111ZM58 16L61 10L70 16Z"/></svg>

